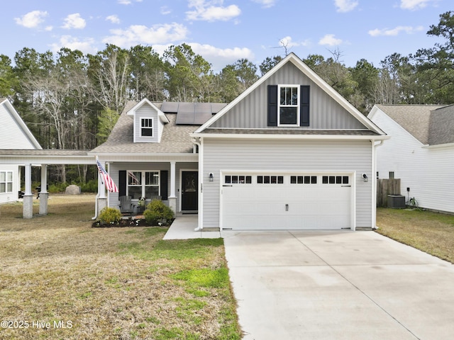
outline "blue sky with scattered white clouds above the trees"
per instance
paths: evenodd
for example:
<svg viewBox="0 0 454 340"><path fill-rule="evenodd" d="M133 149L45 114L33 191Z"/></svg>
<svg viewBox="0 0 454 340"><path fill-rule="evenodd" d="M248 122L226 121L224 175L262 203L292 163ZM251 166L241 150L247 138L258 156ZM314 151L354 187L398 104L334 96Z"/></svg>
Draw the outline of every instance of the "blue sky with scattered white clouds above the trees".
<svg viewBox="0 0 454 340"><path fill-rule="evenodd" d="M346 66L362 58L376 67L398 52L433 47L429 26L454 10L452 0L16 0L2 5L0 54L23 47L61 47L95 54L106 43L129 48L192 46L218 72L247 58L260 64L341 52ZM331 52L330 52L331 51Z"/></svg>

